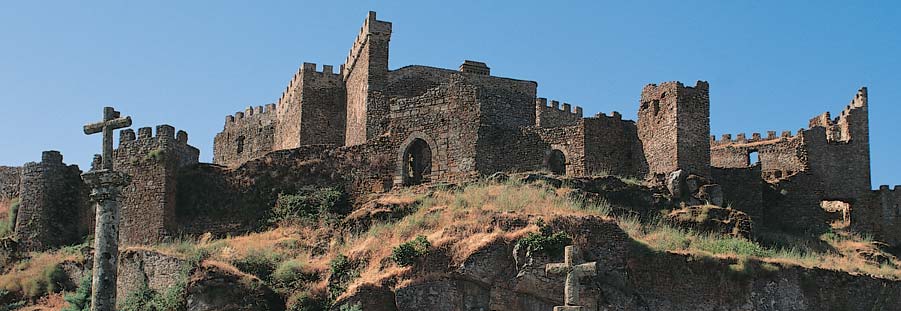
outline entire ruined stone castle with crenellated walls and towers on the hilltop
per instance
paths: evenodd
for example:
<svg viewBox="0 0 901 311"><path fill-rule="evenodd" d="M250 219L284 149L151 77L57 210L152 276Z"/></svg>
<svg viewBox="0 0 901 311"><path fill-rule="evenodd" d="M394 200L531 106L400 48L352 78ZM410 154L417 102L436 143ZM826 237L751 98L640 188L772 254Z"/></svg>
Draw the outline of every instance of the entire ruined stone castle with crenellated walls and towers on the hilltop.
<svg viewBox="0 0 901 311"><path fill-rule="evenodd" d="M370 12L337 72L304 63L276 103L225 118L213 164L168 125L121 132L114 167L124 190L120 240L253 230L280 193L343 187L353 197L502 171L618 175L664 185L702 180L692 196L729 205L764 226L824 230L833 221L901 243L901 189L871 190L867 90L833 118L797 132L710 133L707 82L650 84L638 120L537 97L533 81L457 70L388 67L392 24ZM0 168L0 199L21 198L16 237L37 250L78 240L92 212L77 167L56 152ZM700 190L698 190L700 189ZM671 189L680 197L682 189ZM78 219L65 230L60 219ZM49 234L63 232L63 234Z"/></svg>

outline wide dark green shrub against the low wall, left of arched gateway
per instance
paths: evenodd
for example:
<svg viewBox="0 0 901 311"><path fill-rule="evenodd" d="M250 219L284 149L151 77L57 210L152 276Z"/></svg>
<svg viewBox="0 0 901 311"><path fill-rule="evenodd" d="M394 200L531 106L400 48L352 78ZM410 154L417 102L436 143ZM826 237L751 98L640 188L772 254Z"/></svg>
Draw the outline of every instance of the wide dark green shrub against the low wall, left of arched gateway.
<svg viewBox="0 0 901 311"><path fill-rule="evenodd" d="M342 213L347 206L347 197L337 188L305 187L296 194L279 194L270 221L277 223L317 219Z"/></svg>

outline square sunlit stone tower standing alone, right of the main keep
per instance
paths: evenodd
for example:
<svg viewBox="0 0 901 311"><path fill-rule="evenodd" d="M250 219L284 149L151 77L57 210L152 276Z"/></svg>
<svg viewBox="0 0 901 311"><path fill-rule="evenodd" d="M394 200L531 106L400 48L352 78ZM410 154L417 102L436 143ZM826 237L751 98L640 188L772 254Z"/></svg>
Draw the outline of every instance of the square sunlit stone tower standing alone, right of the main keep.
<svg viewBox="0 0 901 311"><path fill-rule="evenodd" d="M710 176L710 95L705 81L649 84L641 91L638 138L648 173Z"/></svg>

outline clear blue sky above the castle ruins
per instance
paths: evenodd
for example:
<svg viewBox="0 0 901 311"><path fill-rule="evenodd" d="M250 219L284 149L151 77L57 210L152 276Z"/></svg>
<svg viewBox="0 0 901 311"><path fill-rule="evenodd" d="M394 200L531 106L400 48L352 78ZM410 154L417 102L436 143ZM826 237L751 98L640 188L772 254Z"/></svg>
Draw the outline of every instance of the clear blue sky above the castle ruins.
<svg viewBox="0 0 901 311"><path fill-rule="evenodd" d="M714 134L797 131L868 86L873 184L901 184L895 1L125 2L0 3L0 165L55 149L87 169L100 138L81 126L105 105L209 161L225 115L275 101L304 61L340 65L374 10L392 69L480 60L586 115L634 119L645 84L707 80Z"/></svg>

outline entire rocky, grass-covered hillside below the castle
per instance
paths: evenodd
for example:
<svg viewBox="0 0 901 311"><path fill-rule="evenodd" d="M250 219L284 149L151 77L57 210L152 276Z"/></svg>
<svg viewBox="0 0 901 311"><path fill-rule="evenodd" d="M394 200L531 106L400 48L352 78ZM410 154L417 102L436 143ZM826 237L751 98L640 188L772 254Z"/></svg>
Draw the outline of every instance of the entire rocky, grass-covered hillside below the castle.
<svg viewBox="0 0 901 311"><path fill-rule="evenodd" d="M121 309L547 311L562 304L563 277L545 265L566 245L598 263L581 281L588 310L901 303L901 261L877 242L755 228L739 211L677 205L632 180L496 175L342 204L334 189L309 189L279 198L258 233L124 250ZM0 301L84 305L89 249L22 257L4 268Z"/></svg>

